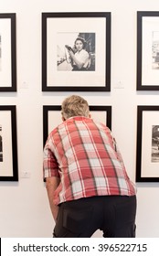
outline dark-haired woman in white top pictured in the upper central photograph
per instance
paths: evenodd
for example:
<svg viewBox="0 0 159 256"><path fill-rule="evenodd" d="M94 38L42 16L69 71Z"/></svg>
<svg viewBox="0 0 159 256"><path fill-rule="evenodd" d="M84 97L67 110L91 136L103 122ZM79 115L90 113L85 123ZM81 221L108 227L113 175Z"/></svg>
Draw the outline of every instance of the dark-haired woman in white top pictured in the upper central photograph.
<svg viewBox="0 0 159 256"><path fill-rule="evenodd" d="M90 54L85 49L86 41L83 37L77 37L75 40L75 52L68 45L65 46L69 51L72 63L72 71L87 71L90 68Z"/></svg>

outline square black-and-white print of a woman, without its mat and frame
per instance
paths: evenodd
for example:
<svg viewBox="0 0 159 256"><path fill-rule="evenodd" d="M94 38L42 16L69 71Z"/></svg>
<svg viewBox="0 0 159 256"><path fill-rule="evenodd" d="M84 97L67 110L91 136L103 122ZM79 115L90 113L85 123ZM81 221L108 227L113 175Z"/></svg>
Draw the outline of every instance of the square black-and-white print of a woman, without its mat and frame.
<svg viewBox="0 0 159 256"><path fill-rule="evenodd" d="M95 71L95 33L58 33L57 38L59 71Z"/></svg>

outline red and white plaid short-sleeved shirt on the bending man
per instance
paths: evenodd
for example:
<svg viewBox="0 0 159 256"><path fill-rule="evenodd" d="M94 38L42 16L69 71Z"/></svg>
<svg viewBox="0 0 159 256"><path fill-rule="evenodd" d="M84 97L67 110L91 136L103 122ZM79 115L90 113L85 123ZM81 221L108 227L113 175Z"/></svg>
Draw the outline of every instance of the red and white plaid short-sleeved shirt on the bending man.
<svg viewBox="0 0 159 256"><path fill-rule="evenodd" d="M83 116L69 118L48 135L44 177L60 183L54 204L93 196L133 196L122 156L108 127Z"/></svg>

